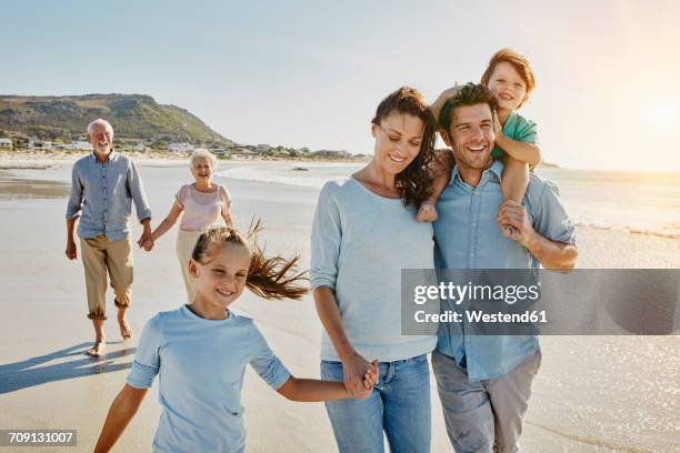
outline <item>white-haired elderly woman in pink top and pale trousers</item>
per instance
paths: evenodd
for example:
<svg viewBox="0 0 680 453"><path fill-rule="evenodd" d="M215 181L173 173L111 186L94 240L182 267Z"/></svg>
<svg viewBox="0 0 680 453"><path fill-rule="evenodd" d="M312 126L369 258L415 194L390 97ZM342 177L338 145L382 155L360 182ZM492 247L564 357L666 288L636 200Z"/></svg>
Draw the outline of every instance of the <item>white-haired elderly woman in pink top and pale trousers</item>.
<svg viewBox="0 0 680 453"><path fill-rule="evenodd" d="M232 225L231 197L223 185L212 182L212 174L218 168L218 160L206 150L196 150L191 154L190 167L194 182L186 184L174 195L170 213L163 219L144 244L147 250L153 242L174 225L183 213L177 232L177 258L182 270L189 303L196 293L194 279L189 274L189 260L198 236L213 225Z"/></svg>

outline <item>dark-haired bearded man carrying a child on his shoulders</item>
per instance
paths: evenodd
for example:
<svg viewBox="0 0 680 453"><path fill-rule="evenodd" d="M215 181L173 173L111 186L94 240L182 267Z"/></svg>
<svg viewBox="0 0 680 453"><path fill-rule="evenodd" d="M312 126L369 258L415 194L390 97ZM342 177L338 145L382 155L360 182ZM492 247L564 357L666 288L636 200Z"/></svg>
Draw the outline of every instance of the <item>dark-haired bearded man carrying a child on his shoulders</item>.
<svg viewBox="0 0 680 453"><path fill-rule="evenodd" d="M446 101L440 132L456 167L438 200L436 264L441 269L573 268L573 225L551 185L531 175L523 204L502 202L503 163L491 159L494 100L469 83ZM501 231L516 231L511 239ZM541 353L537 336L472 335L440 326L432 368L457 452L516 452Z"/></svg>

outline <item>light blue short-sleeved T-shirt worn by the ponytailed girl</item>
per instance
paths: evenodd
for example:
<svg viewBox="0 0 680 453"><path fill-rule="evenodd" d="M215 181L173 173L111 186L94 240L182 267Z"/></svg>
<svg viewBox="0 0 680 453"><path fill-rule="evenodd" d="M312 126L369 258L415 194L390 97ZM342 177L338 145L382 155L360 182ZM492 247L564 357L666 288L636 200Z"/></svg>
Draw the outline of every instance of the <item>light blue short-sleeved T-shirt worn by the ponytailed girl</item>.
<svg viewBox="0 0 680 453"><path fill-rule="evenodd" d="M204 320L183 305L149 320L127 382L149 389L160 376L153 451L246 451L241 389L248 363L272 389L290 378L249 318L230 312L226 320Z"/></svg>

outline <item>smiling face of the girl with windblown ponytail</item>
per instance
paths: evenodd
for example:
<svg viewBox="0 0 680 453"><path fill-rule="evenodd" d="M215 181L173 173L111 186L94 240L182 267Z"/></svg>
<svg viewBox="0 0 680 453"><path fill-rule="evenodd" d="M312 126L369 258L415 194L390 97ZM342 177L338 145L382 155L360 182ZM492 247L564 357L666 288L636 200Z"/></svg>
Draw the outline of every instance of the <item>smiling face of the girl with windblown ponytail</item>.
<svg viewBox="0 0 680 453"><path fill-rule="evenodd" d="M204 262L193 259L189 262L189 271L197 279L192 305L199 312L212 314L211 318L224 314L243 292L249 268L250 252L246 245L229 242L211 245Z"/></svg>

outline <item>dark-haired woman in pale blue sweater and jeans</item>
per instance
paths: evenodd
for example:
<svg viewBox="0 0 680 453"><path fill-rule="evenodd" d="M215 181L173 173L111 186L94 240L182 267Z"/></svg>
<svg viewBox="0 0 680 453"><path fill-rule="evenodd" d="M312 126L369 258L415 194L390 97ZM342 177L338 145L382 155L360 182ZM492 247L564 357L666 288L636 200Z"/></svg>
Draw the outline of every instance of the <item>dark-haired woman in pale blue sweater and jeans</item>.
<svg viewBox="0 0 680 453"><path fill-rule="evenodd" d="M432 225L414 213L432 180L436 121L422 95L403 87L378 107L373 159L319 194L311 284L323 324L321 378L359 394L369 361L379 382L368 399L326 403L343 452L429 452L430 372L436 335L401 334L401 270L431 269Z"/></svg>

